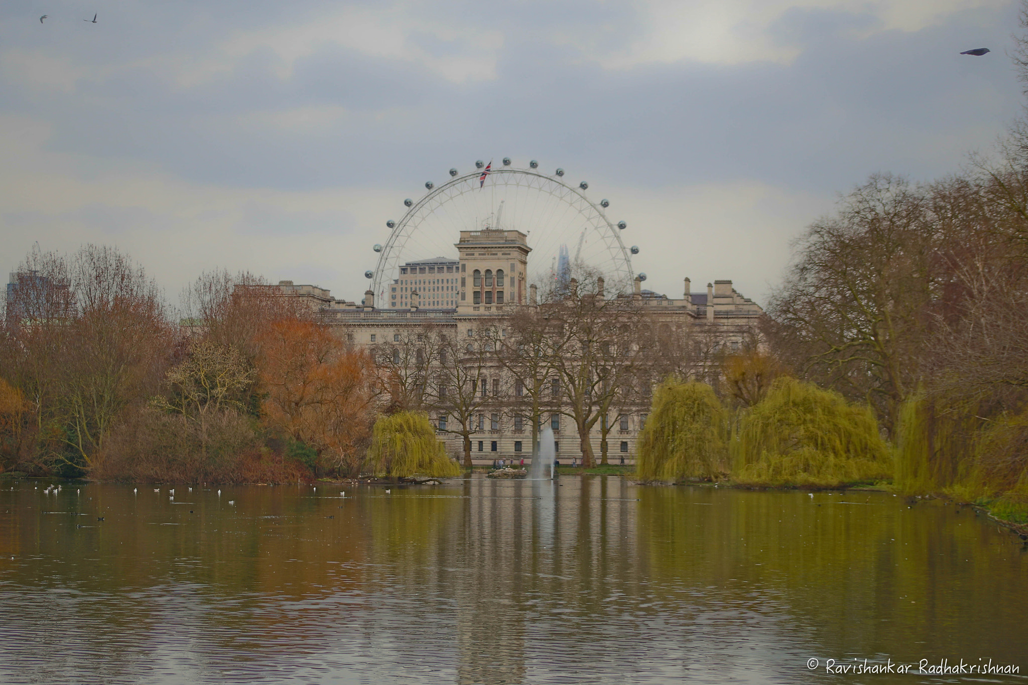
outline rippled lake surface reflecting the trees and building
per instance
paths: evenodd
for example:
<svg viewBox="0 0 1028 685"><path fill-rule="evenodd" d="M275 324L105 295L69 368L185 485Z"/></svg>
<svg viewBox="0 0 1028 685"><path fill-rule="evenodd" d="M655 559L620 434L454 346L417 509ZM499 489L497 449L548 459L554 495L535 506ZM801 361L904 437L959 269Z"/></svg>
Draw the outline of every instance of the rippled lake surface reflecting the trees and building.
<svg viewBox="0 0 1028 685"><path fill-rule="evenodd" d="M857 657L1028 672L1028 549L938 502L613 477L47 485L0 482L2 682L937 679L824 672Z"/></svg>

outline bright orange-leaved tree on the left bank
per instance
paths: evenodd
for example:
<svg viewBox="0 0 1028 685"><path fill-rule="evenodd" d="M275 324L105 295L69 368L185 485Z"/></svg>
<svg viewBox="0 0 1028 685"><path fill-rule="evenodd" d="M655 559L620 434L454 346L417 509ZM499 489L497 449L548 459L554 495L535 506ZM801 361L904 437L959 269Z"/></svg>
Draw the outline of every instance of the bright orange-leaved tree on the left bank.
<svg viewBox="0 0 1028 685"><path fill-rule="evenodd" d="M272 321L259 350L264 425L313 448L318 464L337 475L356 475L378 395L368 353L296 317Z"/></svg>

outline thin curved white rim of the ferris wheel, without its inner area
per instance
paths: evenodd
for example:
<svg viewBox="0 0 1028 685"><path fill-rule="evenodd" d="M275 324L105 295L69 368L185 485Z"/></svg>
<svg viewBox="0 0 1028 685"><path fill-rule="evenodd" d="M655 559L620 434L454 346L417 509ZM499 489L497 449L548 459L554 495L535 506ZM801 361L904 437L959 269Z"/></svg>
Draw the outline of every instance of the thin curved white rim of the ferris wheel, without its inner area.
<svg viewBox="0 0 1028 685"><path fill-rule="evenodd" d="M478 179L481 176L482 176L482 170L476 169L468 174L452 176L452 178L448 179L445 183L442 183L438 186L435 185L430 186L430 184L426 184L426 186L429 189L428 192L425 193L419 199L412 202L399 221L393 222L393 220L390 220L390 222L387 222L387 223L395 223L395 225L390 227L389 238L382 244L381 253L378 257L378 264L375 267L375 270L372 272L372 281L370 290L375 298L384 297L386 289L393 280L393 278L387 274L392 274L393 271L399 268L398 262L400 260L401 255L397 254L396 256L394 256L394 252L397 252L396 248L398 241L401 238L403 238L405 234L408 233L407 229L410 226L411 220L418 217L418 214L436 198L451 191L454 188L457 188L461 184ZM615 253L617 253L620 259L623 261L625 268L618 270L619 271L624 270L626 272L624 274L620 274L620 279L624 280L627 278L627 281L621 283L621 286L625 290L629 288L631 278L633 277L632 266L631 266L631 254L629 249L625 245L624 241L621 239L620 231L622 230L622 228L621 226L619 226L619 223L623 224L624 222L619 222L619 223L612 222L607 217L607 214L603 212L602 206L596 202L593 202L591 199L589 199L588 196L586 196L584 192L585 189L581 187L581 185L584 184L580 184L579 187L576 187L570 185L568 183L565 183L562 180L562 174L558 174L556 176L550 176L542 172L539 172L535 168L522 168L522 167L515 167L508 165L489 170L488 176L500 177L500 178L505 178L505 177L513 178L517 176L523 176L523 177L539 179L543 182L559 186L566 194L575 196L578 201L588 206L588 208L592 211L593 216L596 219L601 220L602 224L604 225L605 231L603 231L601 235L603 235L608 240L614 243L613 246L610 244L608 245L608 248L612 252L612 256ZM509 184L505 183L504 185L506 186ZM440 201L439 205L442 205L444 202L454 200L461 197L462 195L465 195L474 190L476 189L473 187L461 190L461 192L457 192L449 197L446 197L444 200ZM537 190L543 190L543 189L539 188ZM544 191L544 192L547 192L553 197L557 197L552 192L549 191ZM580 215L586 216L582 208L579 208L573 202L568 202L564 197L557 197L557 199L575 207ZM589 217L586 216L586 219L588 220ZM418 225L419 224L415 224L413 226L413 230L416 230ZM599 229L599 226L592 226L592 228ZM407 234L406 237L409 238L409 234ZM403 248L401 245L399 252L402 253L402 250ZM394 262L394 264L391 265L390 262ZM613 282L611 284L614 286Z"/></svg>

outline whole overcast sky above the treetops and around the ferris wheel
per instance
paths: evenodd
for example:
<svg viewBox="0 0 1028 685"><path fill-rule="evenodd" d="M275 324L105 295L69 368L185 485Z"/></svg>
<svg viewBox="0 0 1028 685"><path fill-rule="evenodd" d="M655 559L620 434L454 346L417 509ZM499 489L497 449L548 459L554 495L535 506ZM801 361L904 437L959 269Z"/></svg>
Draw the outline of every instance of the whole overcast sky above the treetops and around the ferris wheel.
<svg viewBox="0 0 1028 685"><path fill-rule="evenodd" d="M103 242L173 304L214 267L360 299L404 197L510 156L616 202L649 288L763 303L839 192L989 150L1016 30L1002 0L10 0L0 268Z"/></svg>

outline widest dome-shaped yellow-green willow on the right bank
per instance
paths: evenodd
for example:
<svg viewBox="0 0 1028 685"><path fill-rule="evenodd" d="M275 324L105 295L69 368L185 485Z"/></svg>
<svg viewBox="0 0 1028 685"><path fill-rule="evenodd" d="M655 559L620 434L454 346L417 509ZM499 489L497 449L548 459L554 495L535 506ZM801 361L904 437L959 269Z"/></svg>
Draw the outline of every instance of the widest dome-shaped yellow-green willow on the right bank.
<svg viewBox="0 0 1028 685"><path fill-rule="evenodd" d="M892 470L870 407L793 378L777 379L742 415L732 453L742 485L834 488Z"/></svg>

